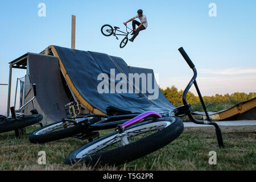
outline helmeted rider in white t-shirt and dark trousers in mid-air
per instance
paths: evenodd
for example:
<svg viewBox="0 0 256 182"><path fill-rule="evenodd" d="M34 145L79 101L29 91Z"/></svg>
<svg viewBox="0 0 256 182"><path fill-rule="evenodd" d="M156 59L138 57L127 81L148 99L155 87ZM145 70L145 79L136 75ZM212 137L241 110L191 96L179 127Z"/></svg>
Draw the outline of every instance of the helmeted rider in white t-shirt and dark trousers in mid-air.
<svg viewBox="0 0 256 182"><path fill-rule="evenodd" d="M134 16L133 18L129 19L127 22L125 22L125 26L127 25L128 22L133 21L133 37L129 39L131 42L134 41L134 39L139 35L139 32L142 30L145 30L147 28L147 17L146 15L143 14L142 10L137 11L138 15ZM135 18L139 18L141 20L141 23L139 23L137 20L134 20ZM138 26L137 28L135 26Z"/></svg>

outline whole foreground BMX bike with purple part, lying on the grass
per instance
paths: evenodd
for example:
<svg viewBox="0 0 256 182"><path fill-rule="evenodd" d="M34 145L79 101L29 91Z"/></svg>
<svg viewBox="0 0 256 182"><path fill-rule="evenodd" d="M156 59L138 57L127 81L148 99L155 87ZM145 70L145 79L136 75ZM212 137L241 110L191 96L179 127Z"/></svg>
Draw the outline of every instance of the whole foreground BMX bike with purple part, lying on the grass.
<svg viewBox="0 0 256 182"><path fill-rule="evenodd" d="M197 86L195 65L182 47L179 51L194 72L183 92L184 105L163 113L147 111L142 114L110 106L106 108L107 115L79 115L79 106L74 102L66 108L68 118L34 131L29 136L30 142L46 143L67 137L88 139L89 143L67 156L65 164L82 162L88 166L118 166L150 154L179 137L184 125L177 116L187 114L194 123L213 125L216 128L218 146L224 147L221 130L217 123L211 121ZM196 120L192 116L191 105L187 103L187 93L192 84L196 87L208 121ZM112 129L112 133L98 138L98 131L109 129Z"/></svg>

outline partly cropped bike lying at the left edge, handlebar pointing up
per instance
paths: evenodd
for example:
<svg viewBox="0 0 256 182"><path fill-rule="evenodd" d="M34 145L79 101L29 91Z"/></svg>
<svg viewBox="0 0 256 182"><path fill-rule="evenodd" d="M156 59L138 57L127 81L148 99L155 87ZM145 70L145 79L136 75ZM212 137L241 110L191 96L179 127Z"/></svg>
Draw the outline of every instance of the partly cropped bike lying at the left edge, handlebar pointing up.
<svg viewBox="0 0 256 182"><path fill-rule="evenodd" d="M5 133L9 131L15 131L15 136L19 137L20 134L26 133L25 127L39 123L43 127L41 120L43 116L38 114L38 111L34 107L34 99L36 98L36 85L33 85L34 97L31 98L26 104L20 107L19 110L15 110L11 107L11 116L6 117L5 115L0 115L0 133ZM24 115L22 109L32 102L34 109L31 110L31 115Z"/></svg>

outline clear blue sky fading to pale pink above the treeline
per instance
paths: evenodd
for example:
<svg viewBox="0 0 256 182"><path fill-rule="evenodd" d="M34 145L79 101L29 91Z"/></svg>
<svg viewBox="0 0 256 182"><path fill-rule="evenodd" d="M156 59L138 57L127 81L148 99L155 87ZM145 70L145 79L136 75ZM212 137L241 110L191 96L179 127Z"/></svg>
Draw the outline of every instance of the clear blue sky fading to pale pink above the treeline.
<svg viewBox="0 0 256 182"><path fill-rule="evenodd" d="M38 15L40 3L46 5L46 16ZM125 30L123 22L138 9L147 16L148 28L133 43L120 49L121 38L101 34L104 24ZM0 1L0 14L0 84L9 82L9 62L24 53L39 53L49 45L70 48L73 14L76 49L107 53L122 57L128 65L154 69L161 88L184 89L193 76L178 51L183 47L196 65L203 96L256 92L255 0L9 0ZM11 105L16 78L25 74L13 70ZM7 92L8 86L0 85L0 114L6 114ZM196 93L194 88L192 92Z"/></svg>

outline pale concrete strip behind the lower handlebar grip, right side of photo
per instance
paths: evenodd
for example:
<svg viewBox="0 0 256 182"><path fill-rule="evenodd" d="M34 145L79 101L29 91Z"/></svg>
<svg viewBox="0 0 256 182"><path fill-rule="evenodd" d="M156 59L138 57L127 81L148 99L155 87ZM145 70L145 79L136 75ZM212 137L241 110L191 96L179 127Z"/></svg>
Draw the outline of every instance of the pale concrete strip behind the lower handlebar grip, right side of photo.
<svg viewBox="0 0 256 182"><path fill-rule="evenodd" d="M255 133L256 120L217 121L222 133ZM214 126L197 125L193 122L184 122L184 131L206 131L215 133Z"/></svg>

